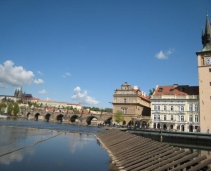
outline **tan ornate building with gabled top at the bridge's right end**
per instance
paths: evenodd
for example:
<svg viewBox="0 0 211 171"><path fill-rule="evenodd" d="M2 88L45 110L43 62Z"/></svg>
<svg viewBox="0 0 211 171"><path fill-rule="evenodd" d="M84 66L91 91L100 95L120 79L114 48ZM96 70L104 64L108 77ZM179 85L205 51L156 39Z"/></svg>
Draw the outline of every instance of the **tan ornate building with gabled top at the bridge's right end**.
<svg viewBox="0 0 211 171"><path fill-rule="evenodd" d="M137 86L132 87L127 82L122 84L120 89L114 91L112 104L113 113L122 111L123 125L149 126L150 99Z"/></svg>

